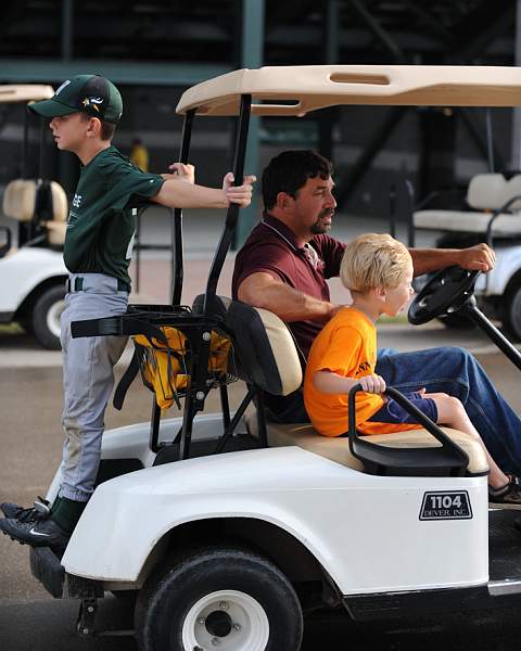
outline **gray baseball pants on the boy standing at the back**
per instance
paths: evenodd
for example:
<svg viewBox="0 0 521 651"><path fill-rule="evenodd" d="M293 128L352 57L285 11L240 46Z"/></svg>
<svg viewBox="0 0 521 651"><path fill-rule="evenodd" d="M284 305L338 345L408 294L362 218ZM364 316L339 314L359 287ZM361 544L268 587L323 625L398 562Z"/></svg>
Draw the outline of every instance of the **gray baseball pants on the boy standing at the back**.
<svg viewBox="0 0 521 651"><path fill-rule="evenodd" d="M81 278L81 291L74 291ZM73 291L71 291L71 289ZM93 492L101 457L104 414L114 386L114 365L126 346L124 336L73 339L71 322L122 315L128 293L102 273L71 276L61 317L65 433L60 496L87 501Z"/></svg>

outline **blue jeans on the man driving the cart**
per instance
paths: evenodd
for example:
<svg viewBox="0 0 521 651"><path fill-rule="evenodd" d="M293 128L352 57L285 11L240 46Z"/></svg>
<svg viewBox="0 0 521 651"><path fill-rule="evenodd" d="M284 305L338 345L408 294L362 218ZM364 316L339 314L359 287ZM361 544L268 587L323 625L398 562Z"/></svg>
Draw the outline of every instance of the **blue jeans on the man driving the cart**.
<svg viewBox="0 0 521 651"><path fill-rule="evenodd" d="M412 353L383 348L376 372L398 391L424 387L459 398L494 461L504 472L521 475L521 421L470 353L456 347Z"/></svg>

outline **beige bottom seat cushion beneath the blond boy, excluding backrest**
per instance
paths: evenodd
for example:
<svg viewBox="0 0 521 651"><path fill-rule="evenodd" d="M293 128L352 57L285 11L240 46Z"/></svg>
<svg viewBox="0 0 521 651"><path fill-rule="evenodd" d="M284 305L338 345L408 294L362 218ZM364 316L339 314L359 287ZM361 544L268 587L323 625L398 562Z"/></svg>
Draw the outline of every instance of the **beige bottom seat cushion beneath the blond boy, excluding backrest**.
<svg viewBox="0 0 521 651"><path fill-rule="evenodd" d="M249 413L245 418L246 425L251 434L257 435L257 419L255 413ZM313 429L310 423L279 424L268 423L268 444L270 447L283 447L296 445L298 447L352 468L364 471L364 465L359 459L353 457L346 436L331 438L321 436ZM450 438L459 445L469 456L468 473L471 475L482 475L488 471L485 452L481 445L471 438L468 434L442 427ZM439 441L427 430L409 430L407 432L396 432L394 434L378 434L364 436L370 443L377 443L390 447L441 447Z"/></svg>

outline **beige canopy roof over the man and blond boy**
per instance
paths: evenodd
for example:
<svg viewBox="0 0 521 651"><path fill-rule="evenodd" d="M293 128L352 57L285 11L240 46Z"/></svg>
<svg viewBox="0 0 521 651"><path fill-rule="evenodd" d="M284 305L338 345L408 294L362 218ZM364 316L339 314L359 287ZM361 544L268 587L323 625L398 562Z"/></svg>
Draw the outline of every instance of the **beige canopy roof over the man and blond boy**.
<svg viewBox="0 0 521 651"><path fill-rule="evenodd" d="M442 65L295 65L247 68L183 92L177 113L303 116L341 104L521 106L521 68Z"/></svg>

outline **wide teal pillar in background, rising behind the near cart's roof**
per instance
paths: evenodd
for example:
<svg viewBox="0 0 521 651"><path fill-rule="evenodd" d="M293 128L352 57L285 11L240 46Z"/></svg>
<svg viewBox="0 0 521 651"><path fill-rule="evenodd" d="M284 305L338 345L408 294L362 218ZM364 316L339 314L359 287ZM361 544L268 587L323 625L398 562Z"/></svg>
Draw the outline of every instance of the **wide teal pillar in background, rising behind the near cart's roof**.
<svg viewBox="0 0 521 651"><path fill-rule="evenodd" d="M265 0L242 1L242 31L241 31L241 67L257 68L264 61L264 23ZM244 171L260 176L259 165L259 130L260 118L250 117L250 138L246 149ZM242 179L236 179L241 183ZM254 192L249 208L241 208L232 248L238 248L246 239L257 220L258 191Z"/></svg>

